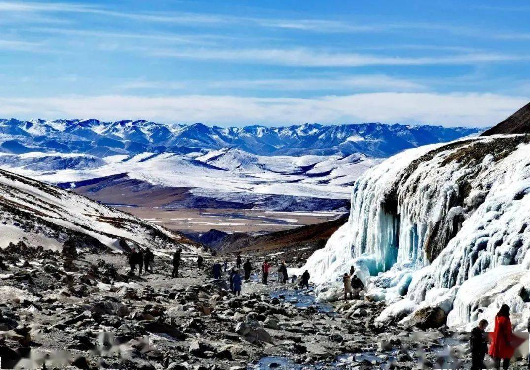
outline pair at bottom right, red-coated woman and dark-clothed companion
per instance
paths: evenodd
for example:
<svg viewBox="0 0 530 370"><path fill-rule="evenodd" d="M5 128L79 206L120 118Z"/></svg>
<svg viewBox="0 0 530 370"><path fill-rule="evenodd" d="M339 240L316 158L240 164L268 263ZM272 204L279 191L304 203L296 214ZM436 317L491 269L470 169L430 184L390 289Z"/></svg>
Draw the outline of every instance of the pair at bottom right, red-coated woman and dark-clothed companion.
<svg viewBox="0 0 530 370"><path fill-rule="evenodd" d="M485 329L488 327L487 320L480 320L479 325L471 330L471 369L485 368L484 357L488 354L493 360L496 369L501 365L504 369L510 366L510 358L514 356L515 349L523 342L513 335L510 321L510 307L502 305L495 315L493 332L487 335ZM530 332L530 319L527 322L527 330ZM490 341L491 339L491 341ZM488 342L490 347L488 349ZM529 366L530 367L530 366Z"/></svg>

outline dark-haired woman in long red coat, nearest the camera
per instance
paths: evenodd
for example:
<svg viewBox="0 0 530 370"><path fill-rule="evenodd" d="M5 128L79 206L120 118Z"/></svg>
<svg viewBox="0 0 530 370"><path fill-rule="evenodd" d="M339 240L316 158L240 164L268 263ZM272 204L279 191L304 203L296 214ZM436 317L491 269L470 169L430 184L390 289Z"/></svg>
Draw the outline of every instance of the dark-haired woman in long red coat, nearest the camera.
<svg viewBox="0 0 530 370"><path fill-rule="evenodd" d="M495 362L495 368L502 366L507 369L510 366L510 358L514 356L514 348L511 346L511 321L510 307L502 305L499 313L495 316L495 326L491 334L490 357Z"/></svg>

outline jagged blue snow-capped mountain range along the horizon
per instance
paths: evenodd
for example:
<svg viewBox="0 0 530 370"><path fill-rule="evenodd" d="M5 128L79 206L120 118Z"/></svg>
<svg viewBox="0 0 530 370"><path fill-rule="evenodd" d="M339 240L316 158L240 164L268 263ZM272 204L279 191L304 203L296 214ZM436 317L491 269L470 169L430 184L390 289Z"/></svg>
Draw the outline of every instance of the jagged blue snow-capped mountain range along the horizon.
<svg viewBox="0 0 530 370"><path fill-rule="evenodd" d="M240 149L258 156L345 156L386 158L404 149L476 134L478 128L429 125L304 124L287 127L216 127L97 119L18 121L0 119L0 151L85 153L103 158L144 152Z"/></svg>

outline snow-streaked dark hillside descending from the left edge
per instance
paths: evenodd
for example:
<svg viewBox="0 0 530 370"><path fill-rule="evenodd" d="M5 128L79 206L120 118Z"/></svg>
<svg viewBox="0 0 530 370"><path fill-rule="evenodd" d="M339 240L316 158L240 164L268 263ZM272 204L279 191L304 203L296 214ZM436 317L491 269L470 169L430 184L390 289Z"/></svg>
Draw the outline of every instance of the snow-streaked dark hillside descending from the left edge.
<svg viewBox="0 0 530 370"><path fill-rule="evenodd" d="M197 245L178 233L84 196L0 169L0 245L23 241L58 249L74 238L79 247L164 249ZM125 244L123 243L125 242Z"/></svg>

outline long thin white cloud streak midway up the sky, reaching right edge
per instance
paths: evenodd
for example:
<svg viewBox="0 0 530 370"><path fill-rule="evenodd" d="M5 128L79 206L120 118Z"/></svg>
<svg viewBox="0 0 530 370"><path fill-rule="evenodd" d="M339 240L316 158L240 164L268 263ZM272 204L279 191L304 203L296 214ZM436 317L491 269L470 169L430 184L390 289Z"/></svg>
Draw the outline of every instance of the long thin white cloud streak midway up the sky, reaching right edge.
<svg viewBox="0 0 530 370"><path fill-rule="evenodd" d="M155 56L189 59L222 60L236 63L252 62L271 65L312 67L354 67L368 65L471 65L527 61L529 55L508 55L497 53L470 53L445 56L399 57L367 55L357 53L329 53L327 51L293 49L154 49L148 50Z"/></svg>

